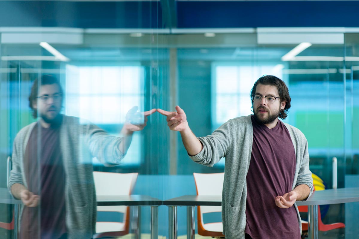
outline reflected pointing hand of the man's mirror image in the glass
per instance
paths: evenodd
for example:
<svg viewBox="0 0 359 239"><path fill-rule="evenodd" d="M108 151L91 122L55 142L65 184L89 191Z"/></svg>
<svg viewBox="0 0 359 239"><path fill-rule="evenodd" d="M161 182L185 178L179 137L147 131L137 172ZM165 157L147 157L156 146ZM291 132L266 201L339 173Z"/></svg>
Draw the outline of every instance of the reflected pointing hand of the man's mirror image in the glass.
<svg viewBox="0 0 359 239"><path fill-rule="evenodd" d="M127 131L140 131L147 125L147 116L150 116L156 109L151 109L145 112L137 112L138 107L132 107L126 114L125 128Z"/></svg>

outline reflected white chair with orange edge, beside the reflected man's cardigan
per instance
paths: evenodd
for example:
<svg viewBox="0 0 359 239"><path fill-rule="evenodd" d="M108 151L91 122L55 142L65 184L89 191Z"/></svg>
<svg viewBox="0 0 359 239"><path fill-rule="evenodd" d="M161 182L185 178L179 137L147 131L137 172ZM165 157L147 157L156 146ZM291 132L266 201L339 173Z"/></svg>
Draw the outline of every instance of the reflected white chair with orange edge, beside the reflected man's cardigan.
<svg viewBox="0 0 359 239"><path fill-rule="evenodd" d="M131 195L138 173L93 172L96 196ZM123 236L130 230L130 208L127 206L97 206L98 212L123 213L122 222L96 222L96 235Z"/></svg>

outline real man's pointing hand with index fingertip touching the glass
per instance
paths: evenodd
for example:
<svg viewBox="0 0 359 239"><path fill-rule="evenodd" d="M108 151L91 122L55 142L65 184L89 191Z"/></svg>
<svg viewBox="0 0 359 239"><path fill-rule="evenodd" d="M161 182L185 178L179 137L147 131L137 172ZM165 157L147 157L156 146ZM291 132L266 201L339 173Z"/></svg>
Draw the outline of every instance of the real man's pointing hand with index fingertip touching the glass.
<svg viewBox="0 0 359 239"><path fill-rule="evenodd" d="M185 111L178 105L175 112L164 111L163 109L157 109L158 113L167 116L167 125L171 130L183 131L188 128L187 116Z"/></svg>

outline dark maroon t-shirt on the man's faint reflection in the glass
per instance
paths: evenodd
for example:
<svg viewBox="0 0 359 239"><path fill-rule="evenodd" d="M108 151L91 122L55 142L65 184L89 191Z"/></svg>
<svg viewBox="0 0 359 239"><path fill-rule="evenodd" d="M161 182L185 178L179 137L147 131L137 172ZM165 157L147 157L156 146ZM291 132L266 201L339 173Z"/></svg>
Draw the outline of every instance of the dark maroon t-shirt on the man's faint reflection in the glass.
<svg viewBox="0 0 359 239"><path fill-rule="evenodd" d="M37 123L24 155L28 189L40 195L38 207L24 207L20 239L58 239L66 235L65 171L60 150L60 125Z"/></svg>

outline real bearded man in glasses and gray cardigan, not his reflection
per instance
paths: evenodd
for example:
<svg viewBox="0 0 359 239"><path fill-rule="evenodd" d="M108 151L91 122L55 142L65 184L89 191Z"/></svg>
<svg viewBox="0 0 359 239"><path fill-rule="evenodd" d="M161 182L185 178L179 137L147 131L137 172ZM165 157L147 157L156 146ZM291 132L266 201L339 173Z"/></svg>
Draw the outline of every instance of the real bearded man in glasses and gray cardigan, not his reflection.
<svg viewBox="0 0 359 239"><path fill-rule="evenodd" d="M171 130L180 131L190 158L212 167L225 157L222 220L225 238L296 238L301 222L295 204L313 192L306 137L283 123L290 108L288 87L264 75L251 91L253 113L196 137L185 112L157 111ZM294 205L294 207L293 207Z"/></svg>

